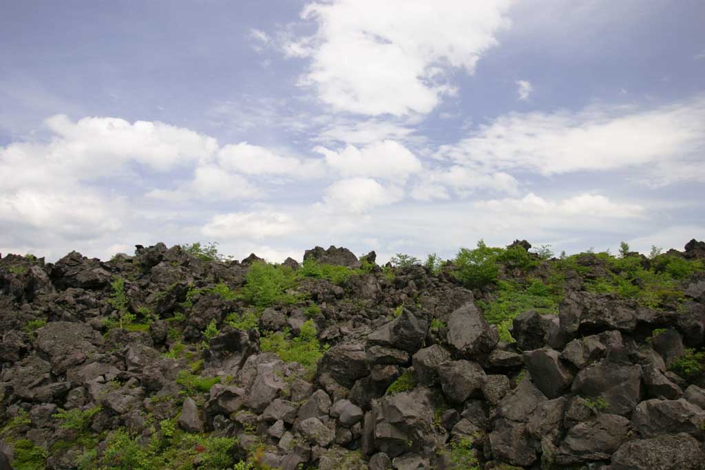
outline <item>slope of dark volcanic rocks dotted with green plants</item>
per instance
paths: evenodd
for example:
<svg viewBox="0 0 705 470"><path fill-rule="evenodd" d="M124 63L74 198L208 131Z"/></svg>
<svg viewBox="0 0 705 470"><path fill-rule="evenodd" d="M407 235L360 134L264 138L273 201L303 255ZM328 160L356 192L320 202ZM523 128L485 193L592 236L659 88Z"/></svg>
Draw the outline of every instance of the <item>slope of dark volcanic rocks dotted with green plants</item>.
<svg viewBox="0 0 705 470"><path fill-rule="evenodd" d="M5 256L0 469L705 469L705 244L527 247Z"/></svg>

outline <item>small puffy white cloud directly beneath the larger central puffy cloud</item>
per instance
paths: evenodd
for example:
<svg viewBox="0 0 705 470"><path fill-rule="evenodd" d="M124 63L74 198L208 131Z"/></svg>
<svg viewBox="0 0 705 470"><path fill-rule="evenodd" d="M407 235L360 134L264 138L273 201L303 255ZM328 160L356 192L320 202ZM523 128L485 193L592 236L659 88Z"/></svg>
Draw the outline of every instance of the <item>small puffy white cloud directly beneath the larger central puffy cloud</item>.
<svg viewBox="0 0 705 470"><path fill-rule="evenodd" d="M348 178L326 189L324 206L331 211L363 213L376 206L398 202L403 190L393 185L383 186L372 178Z"/></svg>

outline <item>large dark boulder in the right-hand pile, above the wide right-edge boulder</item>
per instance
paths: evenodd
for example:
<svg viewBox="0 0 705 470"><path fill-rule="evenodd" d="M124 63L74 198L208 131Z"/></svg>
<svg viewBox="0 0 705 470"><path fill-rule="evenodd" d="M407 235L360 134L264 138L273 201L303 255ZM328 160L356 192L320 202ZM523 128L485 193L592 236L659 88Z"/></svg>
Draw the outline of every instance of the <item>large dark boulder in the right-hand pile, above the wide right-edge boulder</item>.
<svg viewBox="0 0 705 470"><path fill-rule="evenodd" d="M584 397L602 397L606 413L629 414L642 400L642 366L613 364L603 359L577 373L572 392Z"/></svg>

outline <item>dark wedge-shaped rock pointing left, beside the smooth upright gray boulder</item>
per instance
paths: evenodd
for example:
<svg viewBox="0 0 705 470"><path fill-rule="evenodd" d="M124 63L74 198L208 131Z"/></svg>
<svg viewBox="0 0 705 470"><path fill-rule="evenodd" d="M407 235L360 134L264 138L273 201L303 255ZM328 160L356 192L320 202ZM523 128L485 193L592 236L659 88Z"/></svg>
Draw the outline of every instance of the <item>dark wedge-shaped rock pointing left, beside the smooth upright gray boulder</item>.
<svg viewBox="0 0 705 470"><path fill-rule="evenodd" d="M423 314L405 307L400 316L374 330L367 336L367 340L413 354L424 344L428 326L428 320Z"/></svg>

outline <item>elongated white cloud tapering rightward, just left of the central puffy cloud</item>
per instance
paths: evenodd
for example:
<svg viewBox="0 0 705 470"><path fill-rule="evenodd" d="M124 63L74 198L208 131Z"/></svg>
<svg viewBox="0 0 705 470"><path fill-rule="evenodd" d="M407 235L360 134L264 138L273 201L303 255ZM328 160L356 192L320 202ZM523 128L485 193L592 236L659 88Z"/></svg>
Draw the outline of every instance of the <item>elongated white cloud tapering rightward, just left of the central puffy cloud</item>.
<svg viewBox="0 0 705 470"><path fill-rule="evenodd" d="M323 173L321 161L280 156L273 151L247 142L228 144L218 151L223 168L246 175L285 175L317 178Z"/></svg>

